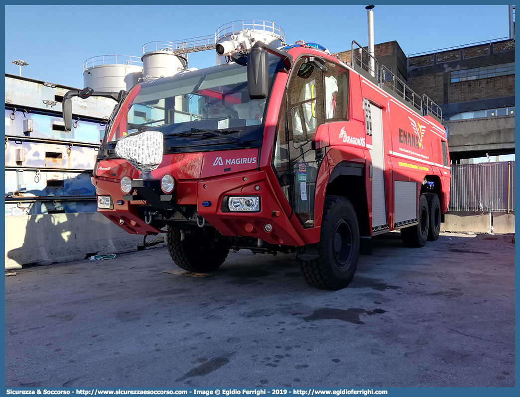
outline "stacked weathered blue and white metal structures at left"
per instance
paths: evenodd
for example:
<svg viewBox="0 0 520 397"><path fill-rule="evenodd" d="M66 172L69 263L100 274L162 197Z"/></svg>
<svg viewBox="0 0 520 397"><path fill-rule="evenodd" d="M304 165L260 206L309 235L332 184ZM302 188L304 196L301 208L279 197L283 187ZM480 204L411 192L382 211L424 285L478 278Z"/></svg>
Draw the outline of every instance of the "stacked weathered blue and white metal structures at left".
<svg viewBox="0 0 520 397"><path fill-rule="evenodd" d="M96 211L90 176L115 102L74 103L63 127L61 101L72 87L5 75L5 215Z"/></svg>

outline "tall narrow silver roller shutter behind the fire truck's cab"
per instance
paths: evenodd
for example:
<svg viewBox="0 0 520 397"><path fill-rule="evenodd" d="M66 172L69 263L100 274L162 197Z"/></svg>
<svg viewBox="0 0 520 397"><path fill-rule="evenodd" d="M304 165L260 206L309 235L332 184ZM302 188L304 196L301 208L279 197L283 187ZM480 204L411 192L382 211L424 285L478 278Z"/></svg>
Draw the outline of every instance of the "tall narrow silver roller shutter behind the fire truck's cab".
<svg viewBox="0 0 520 397"><path fill-rule="evenodd" d="M365 99L365 119L372 133L372 231L388 229L385 193L383 113Z"/></svg>

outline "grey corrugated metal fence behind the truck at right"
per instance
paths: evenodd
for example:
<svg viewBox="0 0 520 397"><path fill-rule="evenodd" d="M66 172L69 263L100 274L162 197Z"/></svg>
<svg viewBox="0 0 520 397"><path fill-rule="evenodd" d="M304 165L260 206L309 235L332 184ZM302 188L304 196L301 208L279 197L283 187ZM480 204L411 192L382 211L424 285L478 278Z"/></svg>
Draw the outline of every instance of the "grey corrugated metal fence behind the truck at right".
<svg viewBox="0 0 520 397"><path fill-rule="evenodd" d="M451 166L449 211L515 210L515 162Z"/></svg>

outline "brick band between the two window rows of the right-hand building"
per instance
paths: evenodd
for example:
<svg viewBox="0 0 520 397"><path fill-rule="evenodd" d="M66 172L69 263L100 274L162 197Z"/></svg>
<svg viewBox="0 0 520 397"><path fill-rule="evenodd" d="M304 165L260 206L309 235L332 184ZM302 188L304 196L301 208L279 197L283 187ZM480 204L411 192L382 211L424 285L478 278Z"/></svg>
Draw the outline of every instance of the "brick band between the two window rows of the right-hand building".
<svg viewBox="0 0 520 397"><path fill-rule="evenodd" d="M486 98L500 98L511 95L515 95L514 74L508 76L479 78L477 80L458 83L448 83L449 103L467 102ZM440 103L443 102L441 101Z"/></svg>

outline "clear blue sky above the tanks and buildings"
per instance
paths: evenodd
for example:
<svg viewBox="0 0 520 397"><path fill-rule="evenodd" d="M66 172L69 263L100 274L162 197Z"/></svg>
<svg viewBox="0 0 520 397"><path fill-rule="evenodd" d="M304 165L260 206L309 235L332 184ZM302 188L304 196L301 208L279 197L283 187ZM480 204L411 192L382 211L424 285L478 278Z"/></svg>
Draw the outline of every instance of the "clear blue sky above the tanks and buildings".
<svg viewBox="0 0 520 397"><path fill-rule="evenodd" d="M155 41L212 35L223 24L259 19L278 24L288 43L319 43L331 52L367 45L365 5L87 5L5 6L5 72L83 87L83 62L98 55L142 56ZM374 41L397 40L405 54L509 35L508 6L376 5ZM189 55L189 67L216 63L214 51Z"/></svg>

